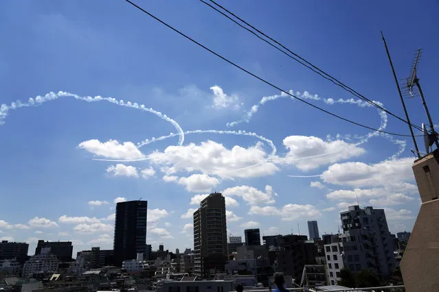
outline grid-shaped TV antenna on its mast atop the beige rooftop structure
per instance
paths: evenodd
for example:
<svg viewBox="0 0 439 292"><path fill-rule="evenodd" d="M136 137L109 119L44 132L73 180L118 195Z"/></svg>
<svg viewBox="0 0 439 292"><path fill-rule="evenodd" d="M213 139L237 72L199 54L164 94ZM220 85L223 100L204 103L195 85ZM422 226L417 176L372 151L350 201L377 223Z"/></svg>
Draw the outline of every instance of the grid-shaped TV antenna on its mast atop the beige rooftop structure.
<svg viewBox="0 0 439 292"><path fill-rule="evenodd" d="M430 130L428 132L427 129L425 128L425 125L423 124L425 151L427 151L427 154L429 154L431 152L430 147L433 144L436 144L436 148L439 148L439 143L438 143L438 134L434 130L434 124L433 121L431 120L431 116L427 104L425 103L424 93L423 90L420 88L420 84L419 84L417 71L418 71L418 64L419 64L421 53L422 53L422 49L418 49L414 54L412 69L410 71L409 77L407 78L406 90L407 93L409 93L410 97L415 97L416 92L414 90L416 90L415 89L416 86L416 88L418 88L420 99L423 101L424 110L425 113L427 114L427 119L429 121L429 126L430 126Z"/></svg>

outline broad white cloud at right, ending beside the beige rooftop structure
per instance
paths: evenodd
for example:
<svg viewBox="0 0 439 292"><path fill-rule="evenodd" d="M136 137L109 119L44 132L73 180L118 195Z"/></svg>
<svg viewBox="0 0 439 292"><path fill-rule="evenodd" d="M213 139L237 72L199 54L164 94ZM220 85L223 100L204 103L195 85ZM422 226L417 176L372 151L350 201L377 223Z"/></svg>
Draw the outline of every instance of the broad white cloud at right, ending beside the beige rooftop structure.
<svg viewBox="0 0 439 292"><path fill-rule="evenodd" d="M401 182L414 180L412 164L413 158L386 160L374 165L366 165L363 162L337 163L328 167L328 170L322 173L322 178L330 184L393 187ZM415 191L413 185L404 186Z"/></svg>

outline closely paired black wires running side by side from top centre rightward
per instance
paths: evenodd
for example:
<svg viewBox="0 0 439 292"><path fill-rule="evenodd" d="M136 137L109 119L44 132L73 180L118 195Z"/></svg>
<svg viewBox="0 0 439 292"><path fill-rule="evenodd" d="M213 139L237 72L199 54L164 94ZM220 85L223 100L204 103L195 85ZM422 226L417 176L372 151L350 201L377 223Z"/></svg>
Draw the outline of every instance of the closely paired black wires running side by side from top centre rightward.
<svg viewBox="0 0 439 292"><path fill-rule="evenodd" d="M278 49L278 51L281 51L282 53L284 53L286 56L289 56L290 58L292 58L293 60L295 60L296 62L299 62L300 64L302 64L303 66L306 66L306 68L311 69L311 71L317 73L318 75L324 77L326 80L329 80L330 82L333 82L333 84L340 86L341 88L343 88L344 90L348 91L349 93L351 93L352 95L359 97L359 99L363 99L363 101L366 101L368 104L375 106L376 108L379 108L380 110L383 110L384 112L387 112L387 114L392 115L393 117L396 117L396 119L399 119L401 121L403 121L404 123L409 124L408 121L406 121L405 119L398 117L396 114L393 114L392 112L390 112L389 110L386 110L385 108L383 108L382 106L380 106L379 104L376 104L374 101L371 101L370 99L368 99L367 97L361 95L360 93L358 93L356 90L350 88L349 86L347 86L346 84L344 84L343 82L337 80L337 78L333 77L332 75L326 73L325 71L323 71L322 69L319 69L317 66L311 64L311 62L308 62L307 60L305 60L304 58L302 58L301 56L297 55L297 53L294 53L293 51L291 51L290 49L288 49L287 47L285 47L284 45L282 45L280 42L278 42L277 40L271 38L270 36L267 36L267 34L264 34L263 32L261 32L259 29L257 29L256 27L254 27L253 25L247 23L247 21L241 19L239 16L236 16L236 14L234 14L233 12L230 12L229 10L227 10L227 8L224 8L222 5L216 3L214 0L209 0L210 2L214 3L214 5L218 6L219 8L223 9L225 12L229 13L230 15L234 16L236 19L238 19L239 21L245 23L246 25L248 25L249 27L251 27L252 29L256 30L256 32L258 32L259 34L262 34L262 36L265 36L266 38L269 38L269 40L275 42L277 45L280 45L280 47L282 47L283 49L286 49L286 51L288 51L289 53L287 53L286 51L280 49L279 47L273 45L273 43L269 42L268 40L262 38L261 36L259 36L258 34L256 34L254 31L252 31L251 29L249 29L248 27L245 27L244 25L241 25L240 23L238 23L237 21L235 21L234 19L232 19L230 16L228 16L227 14L225 14L224 12L218 10L218 8L215 8L214 6L212 6L210 3L207 3L204 0L199 0L203 3L205 3L205 5L208 5L210 8L216 10L216 12L222 14L223 16L227 17L227 19L233 21L234 23L236 23L236 25L239 25L240 27L242 27L243 29L246 29L248 32L250 32L251 34L254 34L254 36L256 36L257 38L260 38L260 40L263 40L264 42L267 42L267 44L271 45L271 47L274 47L275 49ZM293 56L291 56L291 54ZM421 130L422 128L419 127L418 125L414 125L412 124L412 127L416 127L416 129Z"/></svg>

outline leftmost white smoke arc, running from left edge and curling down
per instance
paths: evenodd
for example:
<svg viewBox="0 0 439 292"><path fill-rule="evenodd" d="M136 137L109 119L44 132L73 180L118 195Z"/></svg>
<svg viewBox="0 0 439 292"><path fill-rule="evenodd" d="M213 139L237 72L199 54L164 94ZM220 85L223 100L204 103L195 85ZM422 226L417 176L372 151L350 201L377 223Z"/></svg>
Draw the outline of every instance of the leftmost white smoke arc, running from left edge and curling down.
<svg viewBox="0 0 439 292"><path fill-rule="evenodd" d="M168 117L166 114L158 112L157 110L154 110L153 108L146 108L146 106L144 106L144 104L139 105L136 102L135 103L131 103L131 101L125 102L122 99L120 101L117 101L114 97L101 97L100 95L97 95L95 97L90 97L90 96L81 97L80 95L76 95L74 93L67 93L65 91L58 91L58 93L50 92L44 96L38 95L35 98L30 97L30 99L28 99L27 102L22 102L22 101L18 100L18 101L12 102L12 104L10 106L8 106L6 104L1 104L1 106L0 106L0 125L3 125L3 123L5 123L4 120L6 119L6 116L8 115L9 110L16 110L18 108L30 107L30 106L41 106L41 104L43 104L47 101L52 101L52 100L58 99L60 97L74 97L74 99L87 101L87 102L108 101L111 104L117 104L117 106L126 106L127 108L135 108L136 110L143 110L145 112L150 112L151 114L155 114L160 119L163 119L164 121L170 122L178 132L178 134L175 134L175 136L179 136L179 145L183 145L184 132L183 132L183 129L181 129L179 123L177 123L177 121Z"/></svg>

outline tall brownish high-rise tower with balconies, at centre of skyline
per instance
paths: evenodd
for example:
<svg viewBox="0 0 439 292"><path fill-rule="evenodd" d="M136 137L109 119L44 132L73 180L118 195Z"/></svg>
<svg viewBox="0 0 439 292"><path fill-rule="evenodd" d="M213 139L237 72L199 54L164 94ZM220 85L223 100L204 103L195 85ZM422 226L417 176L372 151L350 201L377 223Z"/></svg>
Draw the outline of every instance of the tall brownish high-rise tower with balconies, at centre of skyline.
<svg viewBox="0 0 439 292"><path fill-rule="evenodd" d="M194 212L194 275L205 277L224 271L226 260L225 198L212 193Z"/></svg>

